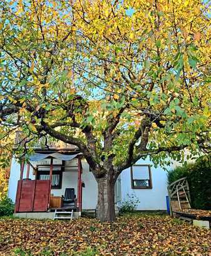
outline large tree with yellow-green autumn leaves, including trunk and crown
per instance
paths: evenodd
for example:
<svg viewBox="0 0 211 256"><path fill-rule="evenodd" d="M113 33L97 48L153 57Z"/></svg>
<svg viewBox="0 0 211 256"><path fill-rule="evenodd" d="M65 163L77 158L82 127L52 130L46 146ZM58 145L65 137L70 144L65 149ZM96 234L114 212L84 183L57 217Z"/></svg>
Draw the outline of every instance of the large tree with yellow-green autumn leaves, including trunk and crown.
<svg viewBox="0 0 211 256"><path fill-rule="evenodd" d="M0 121L16 153L50 136L78 146L115 220L115 181L210 142L210 6L198 0L1 1ZM11 141L11 140L10 140ZM27 152L28 154L31 151ZM168 160L167 160L168 159Z"/></svg>

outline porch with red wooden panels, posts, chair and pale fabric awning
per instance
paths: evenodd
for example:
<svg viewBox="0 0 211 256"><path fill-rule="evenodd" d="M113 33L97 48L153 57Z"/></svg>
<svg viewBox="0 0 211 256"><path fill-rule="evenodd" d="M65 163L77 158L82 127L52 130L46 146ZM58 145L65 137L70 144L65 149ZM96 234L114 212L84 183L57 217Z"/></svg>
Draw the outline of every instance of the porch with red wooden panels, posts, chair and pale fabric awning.
<svg viewBox="0 0 211 256"><path fill-rule="evenodd" d="M67 218L80 217L81 157L81 153L35 153L27 167L24 168L23 162L16 192L15 216L56 218L59 213Z"/></svg>

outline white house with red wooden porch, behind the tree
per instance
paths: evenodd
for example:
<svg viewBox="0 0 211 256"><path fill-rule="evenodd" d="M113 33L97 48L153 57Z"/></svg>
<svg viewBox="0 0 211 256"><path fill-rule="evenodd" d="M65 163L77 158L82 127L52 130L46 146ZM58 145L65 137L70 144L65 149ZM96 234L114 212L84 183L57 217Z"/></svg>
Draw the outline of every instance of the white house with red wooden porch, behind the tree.
<svg viewBox="0 0 211 256"><path fill-rule="evenodd" d="M165 170L153 167L149 159L139 160L123 170L116 181L116 204L120 206L131 195L140 201L138 210L166 210ZM96 208L97 184L89 165L76 149L36 150L29 164L22 167L12 160L8 197L16 202L18 216L51 218L56 209L70 209L73 204L80 214Z"/></svg>

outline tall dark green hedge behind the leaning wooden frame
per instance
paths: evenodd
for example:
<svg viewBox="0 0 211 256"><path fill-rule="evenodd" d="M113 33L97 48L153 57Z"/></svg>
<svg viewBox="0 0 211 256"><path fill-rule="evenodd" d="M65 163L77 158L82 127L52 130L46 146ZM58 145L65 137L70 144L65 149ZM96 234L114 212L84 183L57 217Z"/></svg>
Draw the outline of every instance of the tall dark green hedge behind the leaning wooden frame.
<svg viewBox="0 0 211 256"><path fill-rule="evenodd" d="M211 156L199 157L194 164L171 170L168 184L182 177L187 177L192 208L211 209Z"/></svg>

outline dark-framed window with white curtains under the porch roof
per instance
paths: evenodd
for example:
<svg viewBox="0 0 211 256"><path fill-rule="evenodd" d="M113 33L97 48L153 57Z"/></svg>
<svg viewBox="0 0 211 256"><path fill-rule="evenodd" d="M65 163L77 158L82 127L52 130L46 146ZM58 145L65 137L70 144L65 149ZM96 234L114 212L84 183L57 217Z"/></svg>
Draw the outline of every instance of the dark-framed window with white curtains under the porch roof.
<svg viewBox="0 0 211 256"><path fill-rule="evenodd" d="M49 165L38 165L37 179L39 180L50 179L49 172L50 172ZM53 166L51 189L61 189L62 172L63 172L63 169L61 166L59 165Z"/></svg>

